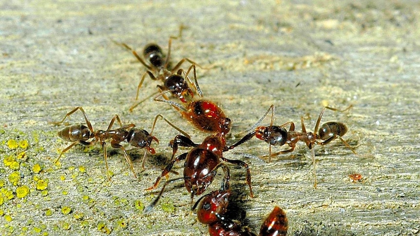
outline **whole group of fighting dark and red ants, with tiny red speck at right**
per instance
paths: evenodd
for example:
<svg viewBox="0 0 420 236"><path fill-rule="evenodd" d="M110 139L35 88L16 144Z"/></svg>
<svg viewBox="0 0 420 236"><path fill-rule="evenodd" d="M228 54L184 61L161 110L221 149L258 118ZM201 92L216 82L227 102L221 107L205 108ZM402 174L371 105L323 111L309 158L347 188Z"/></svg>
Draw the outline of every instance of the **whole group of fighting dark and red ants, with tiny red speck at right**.
<svg viewBox="0 0 420 236"><path fill-rule="evenodd" d="M66 118L68 118L76 111L80 111L85 120L85 124L67 126L58 132L59 138L72 143L61 151L56 162L74 145L94 145L99 143L102 146L107 177L109 180L111 180L108 174L109 167L107 162L108 155L106 149L106 142L109 141L112 147L122 150L125 160L129 164L130 169L134 174L134 178L137 178L132 159L127 154L125 147L121 145L121 143L127 142L128 145L133 146L134 148L145 149L141 165L142 169L144 169L144 163L147 154L155 153L155 149L152 147L153 141L159 143L158 138L153 136L153 130L157 120L161 118L168 125L176 129L180 134L174 136L174 138L169 143L169 145L172 147L172 157L170 163L167 164L162 173L156 178L154 184L147 188L147 190L153 190L158 187L161 179L168 176L176 163L184 161L184 171L182 177L170 179L164 183L158 196L153 200L152 203L150 203L150 205L145 207L143 214L148 214L153 211L154 206L158 203L168 184L176 181L184 181L184 186L188 193L191 195L191 210L196 212L198 221L208 226L210 236L256 236L256 234L251 232L249 227L244 226L240 221L236 219L229 218L227 214L228 204L231 200L230 198L232 193L230 189L229 164L243 167L245 169L246 183L249 188L249 196L253 198L254 193L252 191L251 183L251 168L249 167L248 163L244 161L225 158L223 156L224 152L229 151L238 145L242 145L251 138L256 137L257 139L263 140L268 144L268 156L262 157L268 157L267 162L270 163L272 157L293 152L297 143L302 142L309 148L309 150L311 150L314 188L317 187L314 152L315 145L327 145L333 140L338 139L347 148L349 148L351 152L357 155L354 148L351 147L342 138L347 132L347 127L344 123L330 121L321 125L321 119L326 109L344 112L350 109L352 105L344 110L331 107L323 108L316 121L313 132L306 130L303 117L301 117L302 131L300 132L295 130L295 124L292 121L288 121L281 125L275 125L275 107L274 105L271 105L263 114L263 116L254 125L250 126L246 130L247 134L242 139L234 144L227 145L226 137L231 129L231 119L225 115L223 109L221 109L215 102L208 99L203 99L203 93L199 87L196 76L196 67L202 68L201 66L189 58L183 58L172 67L170 55L173 38L174 37L171 37L169 39L168 52L166 55L163 53L163 50L154 43L146 45L142 56L140 56L127 44L115 42L118 45L121 45L123 48L129 50L134 55L134 57L146 68L146 72L143 73L137 85L135 96L136 102L130 107L129 110L133 111L134 108L136 108L146 99L153 97L154 101L166 103L172 106L193 127L207 133L208 136L202 142L194 143L191 140L189 134L178 128L176 125L174 125L160 114L155 116L150 132L145 129L138 128L132 123L122 125L119 116L116 114L112 117L107 129L94 130L84 109L82 107L76 107L75 109L72 109L70 112L68 112L61 121L52 122L55 125L62 124ZM181 68L184 62L189 62L191 64L187 70L183 70ZM145 99L137 101L140 89L146 77L150 77L152 80L158 82L156 85L157 91L152 95L146 96ZM260 126L270 111L271 119L269 125ZM115 121L119 125L116 128L114 127ZM287 127L288 129L286 129ZM272 151L272 146L282 145L288 145L289 149L277 152ZM190 150L175 156L178 151L178 147L180 146L189 147ZM251 154L240 154L245 157L252 157L263 161L262 159ZM219 169L221 169L224 174L220 190L205 194L193 204L193 198L206 192L207 188L215 179ZM359 178L359 176L355 175L351 175L350 178L359 182L361 182L362 179L361 177ZM262 223L258 235L285 236L287 234L287 229L288 221L285 211L280 207L275 206L272 212Z"/></svg>

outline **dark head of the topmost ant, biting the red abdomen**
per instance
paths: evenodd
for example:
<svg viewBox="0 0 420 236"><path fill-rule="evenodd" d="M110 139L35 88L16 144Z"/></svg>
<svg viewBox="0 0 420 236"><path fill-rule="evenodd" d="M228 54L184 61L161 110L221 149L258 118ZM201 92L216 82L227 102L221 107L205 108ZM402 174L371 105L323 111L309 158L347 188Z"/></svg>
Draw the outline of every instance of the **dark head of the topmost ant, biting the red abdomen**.
<svg viewBox="0 0 420 236"><path fill-rule="evenodd" d="M167 80L165 80L165 87L183 103L191 101L194 96L194 93L185 82L185 79L179 74L172 74L169 76Z"/></svg>

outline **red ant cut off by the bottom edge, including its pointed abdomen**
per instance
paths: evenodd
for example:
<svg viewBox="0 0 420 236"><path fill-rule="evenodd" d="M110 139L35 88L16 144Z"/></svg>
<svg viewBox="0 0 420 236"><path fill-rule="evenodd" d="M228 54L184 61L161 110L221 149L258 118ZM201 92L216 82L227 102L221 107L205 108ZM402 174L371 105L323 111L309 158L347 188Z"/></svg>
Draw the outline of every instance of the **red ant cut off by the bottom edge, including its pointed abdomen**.
<svg viewBox="0 0 420 236"><path fill-rule="evenodd" d="M224 216L227 212L230 190L226 187L213 191L197 200L192 207L197 206L197 218L203 224L209 225L210 236L255 236L248 227ZM261 225L259 236L286 236L288 221L286 213L278 206L268 215Z"/></svg>

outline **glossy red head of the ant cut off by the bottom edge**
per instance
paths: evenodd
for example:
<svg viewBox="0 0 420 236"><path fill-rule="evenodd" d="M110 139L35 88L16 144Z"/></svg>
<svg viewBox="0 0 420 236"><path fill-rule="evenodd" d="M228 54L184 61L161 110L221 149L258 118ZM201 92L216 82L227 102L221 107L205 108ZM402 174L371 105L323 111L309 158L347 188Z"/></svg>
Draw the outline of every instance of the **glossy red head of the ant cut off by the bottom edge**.
<svg viewBox="0 0 420 236"><path fill-rule="evenodd" d="M226 213L230 194L229 190L217 190L203 197L198 204L198 220L203 224L212 224L218 221L216 214Z"/></svg>

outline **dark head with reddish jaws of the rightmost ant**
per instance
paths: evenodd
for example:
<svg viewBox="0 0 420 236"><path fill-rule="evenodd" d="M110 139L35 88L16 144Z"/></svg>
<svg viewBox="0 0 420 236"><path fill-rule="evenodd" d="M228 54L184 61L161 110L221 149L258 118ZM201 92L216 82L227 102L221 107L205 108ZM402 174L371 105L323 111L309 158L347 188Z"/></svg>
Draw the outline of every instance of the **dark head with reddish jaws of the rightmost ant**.
<svg viewBox="0 0 420 236"><path fill-rule="evenodd" d="M287 130L279 126L260 126L255 129L255 137L273 146L286 144Z"/></svg>

